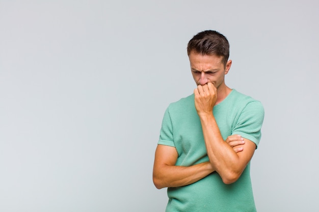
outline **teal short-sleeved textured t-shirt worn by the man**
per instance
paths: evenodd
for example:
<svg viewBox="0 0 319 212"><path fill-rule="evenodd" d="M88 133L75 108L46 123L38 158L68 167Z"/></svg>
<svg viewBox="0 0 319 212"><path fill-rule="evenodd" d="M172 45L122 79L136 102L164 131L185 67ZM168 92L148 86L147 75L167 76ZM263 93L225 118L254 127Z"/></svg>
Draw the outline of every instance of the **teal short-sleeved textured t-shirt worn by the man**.
<svg viewBox="0 0 319 212"><path fill-rule="evenodd" d="M231 93L213 109L224 140L239 134L256 144L261 137L264 117L259 101L232 89ZM176 166L192 166L209 161L201 123L195 109L194 94L171 103L166 109L158 144L174 146L178 153ZM166 211L256 211L250 163L233 184L223 183L217 172L194 184L168 188Z"/></svg>

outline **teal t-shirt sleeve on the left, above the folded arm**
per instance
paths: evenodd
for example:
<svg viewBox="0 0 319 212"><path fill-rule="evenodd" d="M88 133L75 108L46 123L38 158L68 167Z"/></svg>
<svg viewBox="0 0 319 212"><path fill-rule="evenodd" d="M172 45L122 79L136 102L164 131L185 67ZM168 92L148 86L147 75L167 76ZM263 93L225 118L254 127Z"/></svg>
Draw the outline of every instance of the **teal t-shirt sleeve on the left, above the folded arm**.
<svg viewBox="0 0 319 212"><path fill-rule="evenodd" d="M173 139L173 126L172 126L171 116L169 113L169 108L167 108L164 113L162 128L159 133L159 140L157 144L175 147L174 139Z"/></svg>

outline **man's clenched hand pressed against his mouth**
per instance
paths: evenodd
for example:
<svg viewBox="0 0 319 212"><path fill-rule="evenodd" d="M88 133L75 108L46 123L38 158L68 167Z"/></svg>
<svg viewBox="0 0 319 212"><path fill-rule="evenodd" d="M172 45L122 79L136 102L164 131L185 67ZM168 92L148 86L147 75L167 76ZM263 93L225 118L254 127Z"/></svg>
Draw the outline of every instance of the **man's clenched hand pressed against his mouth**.
<svg viewBox="0 0 319 212"><path fill-rule="evenodd" d="M194 89L195 108L198 114L211 114L217 100L217 88L211 82Z"/></svg>

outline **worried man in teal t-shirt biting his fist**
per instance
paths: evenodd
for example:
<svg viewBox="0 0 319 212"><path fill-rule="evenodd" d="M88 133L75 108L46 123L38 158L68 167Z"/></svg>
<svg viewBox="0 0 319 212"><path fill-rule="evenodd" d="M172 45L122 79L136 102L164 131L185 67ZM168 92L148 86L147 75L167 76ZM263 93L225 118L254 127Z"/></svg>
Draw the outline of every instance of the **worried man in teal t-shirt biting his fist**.
<svg viewBox="0 0 319 212"><path fill-rule="evenodd" d="M229 43L204 31L188 43L194 94L167 108L153 181L168 187L166 211L256 211L250 160L261 137L259 101L229 88Z"/></svg>

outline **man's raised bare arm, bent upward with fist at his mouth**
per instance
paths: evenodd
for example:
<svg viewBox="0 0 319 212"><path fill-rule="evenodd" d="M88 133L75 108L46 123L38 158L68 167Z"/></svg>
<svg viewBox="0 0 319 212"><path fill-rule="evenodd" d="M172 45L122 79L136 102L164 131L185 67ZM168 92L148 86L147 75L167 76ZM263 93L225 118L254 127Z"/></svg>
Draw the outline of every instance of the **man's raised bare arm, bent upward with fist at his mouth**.
<svg viewBox="0 0 319 212"><path fill-rule="evenodd" d="M200 117L209 161L225 184L234 183L253 157L256 145L244 139L245 144L242 146L244 150L236 154L231 146L224 142L212 113L217 99L217 89L212 83L199 85L194 90L194 94L195 107Z"/></svg>

